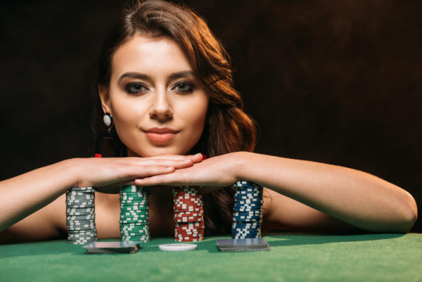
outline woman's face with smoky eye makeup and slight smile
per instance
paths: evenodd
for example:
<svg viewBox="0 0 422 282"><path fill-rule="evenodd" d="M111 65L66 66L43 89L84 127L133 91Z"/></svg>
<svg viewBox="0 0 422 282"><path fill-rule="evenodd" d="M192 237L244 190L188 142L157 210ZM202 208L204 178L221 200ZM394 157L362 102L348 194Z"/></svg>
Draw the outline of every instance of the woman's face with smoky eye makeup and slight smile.
<svg viewBox="0 0 422 282"><path fill-rule="evenodd" d="M203 132L207 94L171 39L137 35L120 46L100 98L128 156L184 155Z"/></svg>

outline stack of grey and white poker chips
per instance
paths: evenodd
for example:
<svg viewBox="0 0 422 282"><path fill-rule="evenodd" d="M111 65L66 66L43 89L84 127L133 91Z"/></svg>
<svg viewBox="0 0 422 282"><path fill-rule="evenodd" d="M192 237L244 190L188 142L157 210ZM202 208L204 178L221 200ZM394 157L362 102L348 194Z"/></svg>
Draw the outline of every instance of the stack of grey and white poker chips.
<svg viewBox="0 0 422 282"><path fill-rule="evenodd" d="M75 187L66 192L66 225L68 243L86 244L96 241L93 187Z"/></svg>

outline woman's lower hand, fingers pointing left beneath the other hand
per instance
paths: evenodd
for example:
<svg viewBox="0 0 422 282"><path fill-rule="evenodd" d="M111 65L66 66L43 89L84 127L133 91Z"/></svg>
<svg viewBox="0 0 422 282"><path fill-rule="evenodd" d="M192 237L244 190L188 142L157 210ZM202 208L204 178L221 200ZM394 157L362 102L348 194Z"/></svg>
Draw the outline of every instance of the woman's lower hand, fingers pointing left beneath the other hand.
<svg viewBox="0 0 422 282"><path fill-rule="evenodd" d="M171 185L203 186L205 193L216 191L238 181L237 169L242 162L242 152L219 155L196 162L191 167L172 173L143 177L135 180L138 186Z"/></svg>

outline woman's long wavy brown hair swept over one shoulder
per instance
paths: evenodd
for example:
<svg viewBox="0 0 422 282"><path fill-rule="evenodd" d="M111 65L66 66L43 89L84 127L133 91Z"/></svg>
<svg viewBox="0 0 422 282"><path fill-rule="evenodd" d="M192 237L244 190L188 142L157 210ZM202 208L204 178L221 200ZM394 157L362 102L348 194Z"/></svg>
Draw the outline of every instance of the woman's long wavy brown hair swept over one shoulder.
<svg viewBox="0 0 422 282"><path fill-rule="evenodd" d="M240 150L253 151L257 140L255 122L243 112L243 101L234 89L229 56L207 27L205 20L190 8L162 0L135 1L124 8L122 19L108 35L98 60L96 86L108 86L115 51L135 34L167 37L181 46L209 95L205 127L200 140L190 153L203 153L208 158ZM105 127L103 110L94 91L93 127L97 139ZM124 145L115 130L115 155ZM120 148L120 149L119 149ZM234 191L231 187L205 194L205 233L231 232Z"/></svg>

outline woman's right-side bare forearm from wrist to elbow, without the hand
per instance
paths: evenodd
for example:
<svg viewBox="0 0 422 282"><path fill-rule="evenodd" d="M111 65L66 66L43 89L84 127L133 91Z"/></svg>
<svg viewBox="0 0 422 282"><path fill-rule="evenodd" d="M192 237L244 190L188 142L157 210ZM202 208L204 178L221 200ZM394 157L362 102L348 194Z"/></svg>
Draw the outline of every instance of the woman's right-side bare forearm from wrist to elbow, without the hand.
<svg viewBox="0 0 422 282"><path fill-rule="evenodd" d="M407 232L416 203L407 191L346 167L240 153L238 179L271 188L368 231Z"/></svg>

